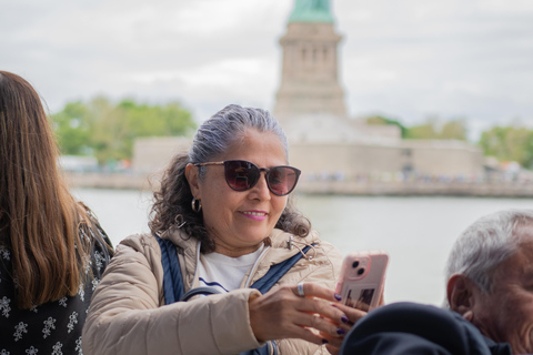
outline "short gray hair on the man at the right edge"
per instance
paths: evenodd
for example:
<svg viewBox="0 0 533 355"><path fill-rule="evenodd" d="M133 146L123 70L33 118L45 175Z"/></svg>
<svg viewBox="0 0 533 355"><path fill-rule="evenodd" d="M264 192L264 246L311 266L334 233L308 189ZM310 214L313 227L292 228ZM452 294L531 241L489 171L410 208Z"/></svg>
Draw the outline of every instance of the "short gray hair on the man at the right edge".
<svg viewBox="0 0 533 355"><path fill-rule="evenodd" d="M485 293L493 290L493 272L520 244L517 230L533 225L533 210L505 210L483 216L457 239L447 260L446 282L463 274Z"/></svg>

